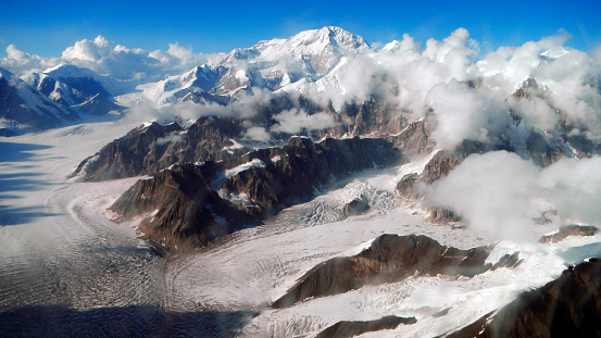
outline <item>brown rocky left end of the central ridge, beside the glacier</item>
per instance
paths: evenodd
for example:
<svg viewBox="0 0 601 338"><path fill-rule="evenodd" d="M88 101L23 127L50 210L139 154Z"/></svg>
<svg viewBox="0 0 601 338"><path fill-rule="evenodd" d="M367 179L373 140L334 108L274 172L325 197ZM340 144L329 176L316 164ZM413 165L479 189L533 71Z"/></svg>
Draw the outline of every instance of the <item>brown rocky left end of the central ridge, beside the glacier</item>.
<svg viewBox="0 0 601 338"><path fill-rule="evenodd" d="M173 165L138 180L109 210L121 220L149 214L139 225L142 237L167 248L206 245L256 218L212 190L221 170L215 163Z"/></svg>

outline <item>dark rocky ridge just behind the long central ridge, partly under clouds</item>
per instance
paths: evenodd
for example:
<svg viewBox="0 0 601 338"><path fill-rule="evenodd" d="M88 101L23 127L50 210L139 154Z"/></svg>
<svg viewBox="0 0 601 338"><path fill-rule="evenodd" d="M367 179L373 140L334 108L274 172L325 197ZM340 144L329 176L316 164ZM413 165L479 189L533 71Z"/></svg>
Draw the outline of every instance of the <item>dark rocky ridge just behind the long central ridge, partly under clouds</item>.
<svg viewBox="0 0 601 338"><path fill-rule="evenodd" d="M201 117L186 129L159 124L152 124L148 128L138 127L109 143L96 155L84 160L74 175L84 174L84 180L103 180L147 175L174 163L231 161L250 151L249 148L235 142L236 139L243 137L247 125L260 125L268 129L276 124L274 116L283 111L295 109L297 105L310 115L323 112L320 105L303 97L293 99L287 95L278 95L274 96L266 104L255 107L256 114L251 117ZM349 116L329 112L334 121L338 121L336 126L304 130L304 133L315 138L323 138L326 136L364 135L376 130L384 135L388 135L390 130L399 132L401 122L397 122L399 125L395 127L378 123L378 121L385 121L391 113L387 107L377 104L365 107L359 109L359 112L354 114L368 114L375 116L374 120L355 118L356 122L345 124L343 121L352 120L349 120ZM424 125L423 122L414 123L404 128L403 133L398 133L386 139L388 142L395 143L395 147L401 149L403 153L406 151L411 157L423 155L434 149L434 140L423 132ZM353 132L355 129L363 132L355 133ZM274 133L272 136L271 141L283 143L292 135ZM327 140L324 145L330 147L330 143L331 141ZM318 166L320 163L308 162L308 165ZM345 165L353 166L354 164L347 161Z"/></svg>

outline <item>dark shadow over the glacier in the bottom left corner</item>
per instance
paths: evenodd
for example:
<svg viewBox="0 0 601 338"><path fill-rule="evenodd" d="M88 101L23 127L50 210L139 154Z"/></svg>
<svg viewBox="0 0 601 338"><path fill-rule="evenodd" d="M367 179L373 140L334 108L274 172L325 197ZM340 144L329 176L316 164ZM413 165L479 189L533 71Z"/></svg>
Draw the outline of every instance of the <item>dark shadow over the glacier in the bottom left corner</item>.
<svg viewBox="0 0 601 338"><path fill-rule="evenodd" d="M235 337L256 313L171 312L130 305L87 311L29 305L0 312L5 337Z"/></svg>

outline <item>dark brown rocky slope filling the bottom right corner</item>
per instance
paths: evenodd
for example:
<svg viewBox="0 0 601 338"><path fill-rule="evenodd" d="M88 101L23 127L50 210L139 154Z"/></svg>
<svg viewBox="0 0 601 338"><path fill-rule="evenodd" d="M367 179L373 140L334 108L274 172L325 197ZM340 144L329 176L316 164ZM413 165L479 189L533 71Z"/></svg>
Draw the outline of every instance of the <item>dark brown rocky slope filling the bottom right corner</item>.
<svg viewBox="0 0 601 338"><path fill-rule="evenodd" d="M590 259L447 337L600 337L600 317L601 260Z"/></svg>

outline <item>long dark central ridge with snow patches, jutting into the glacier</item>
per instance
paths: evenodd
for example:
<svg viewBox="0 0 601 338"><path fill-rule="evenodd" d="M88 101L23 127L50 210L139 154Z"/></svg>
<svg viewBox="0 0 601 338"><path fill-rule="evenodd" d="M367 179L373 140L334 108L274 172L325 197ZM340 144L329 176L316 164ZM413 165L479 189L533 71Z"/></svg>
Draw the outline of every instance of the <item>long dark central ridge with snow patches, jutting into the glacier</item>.
<svg viewBox="0 0 601 338"><path fill-rule="evenodd" d="M197 247L306 201L337 177L401 160L381 139L292 137L283 148L173 165L136 183L110 210L121 220L143 216L140 230L152 241Z"/></svg>

